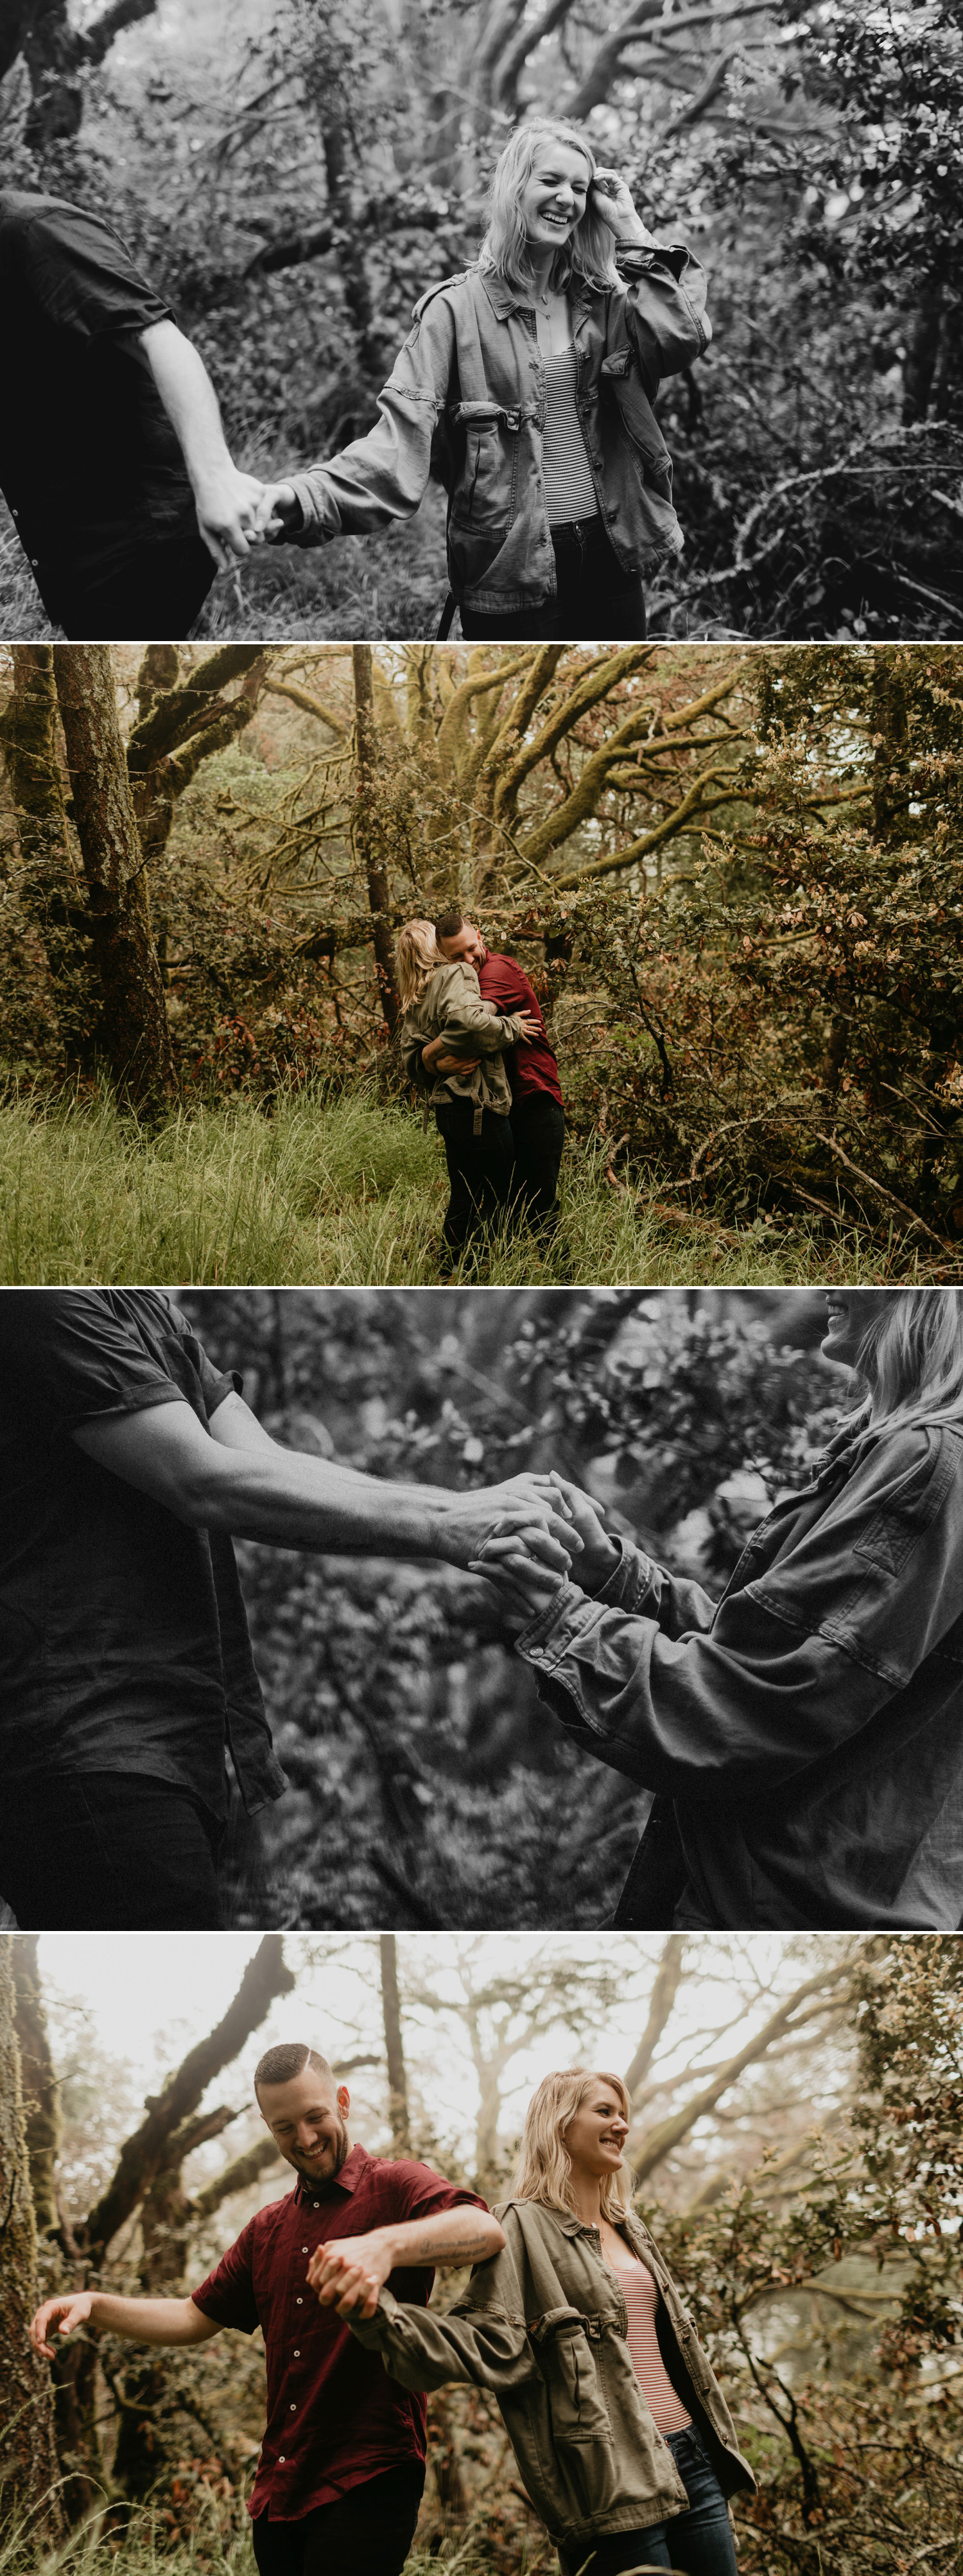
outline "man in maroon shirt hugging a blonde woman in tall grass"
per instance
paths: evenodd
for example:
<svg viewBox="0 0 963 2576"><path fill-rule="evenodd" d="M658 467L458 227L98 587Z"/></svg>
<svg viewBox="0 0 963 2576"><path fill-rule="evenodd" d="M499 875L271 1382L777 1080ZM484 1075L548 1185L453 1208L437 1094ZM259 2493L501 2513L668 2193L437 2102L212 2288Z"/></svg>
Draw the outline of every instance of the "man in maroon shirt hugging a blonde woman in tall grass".
<svg viewBox="0 0 963 2576"><path fill-rule="evenodd" d="M548 1234L556 1224L559 1164L564 1146L564 1100L556 1054L541 1018L538 999L515 958L492 956L482 933L461 912L440 912L435 940L443 958L466 958L476 969L484 1002L497 1010L528 1010L538 1020L541 1036L525 1038L505 1056L512 1084L512 1139L515 1139L515 1200L536 1234ZM422 1051L425 1072L463 1072L463 1059L445 1056L445 1041L433 1038Z"/></svg>

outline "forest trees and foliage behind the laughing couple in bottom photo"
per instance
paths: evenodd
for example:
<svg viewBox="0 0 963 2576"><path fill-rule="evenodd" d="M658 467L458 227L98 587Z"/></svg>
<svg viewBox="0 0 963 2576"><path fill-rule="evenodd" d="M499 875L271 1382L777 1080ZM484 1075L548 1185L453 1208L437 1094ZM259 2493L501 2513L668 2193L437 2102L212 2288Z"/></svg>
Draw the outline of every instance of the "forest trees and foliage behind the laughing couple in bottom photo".
<svg viewBox="0 0 963 2576"><path fill-rule="evenodd" d="M731 1940L703 1973L700 1945L680 1935L525 1945L518 1960L505 1945L494 1958L479 1942L268 1935L221 2022L180 2063L162 2040L144 2115L124 2061L106 2061L77 2020L80 2002L46 1989L36 1940L8 1935L3 1953L0 2043L21 2053L15 2184L36 2226L33 2295L85 2282L157 2295L203 2277L286 2184L250 2099L255 2053L278 2027L273 2004L294 1991L294 2027L317 2030L319 1996L348 1973L348 2048L330 2048L363 2105L353 2133L381 2154L422 2154L489 2200L505 2192L538 2074L597 2056L623 2066L636 2208L693 2306L757 2473L757 2494L736 2499L747 2576L904 2576L914 2563L953 2576L963 2434L953 1937ZM453 2058L474 2069L474 2143L438 2133L440 2066ZM448 2306L456 2293L458 2275L443 2275L433 2298ZM0 2336L23 2342L8 2303ZM59 2543L46 2566L85 2563L98 2576L108 2561L139 2576L147 2558L178 2576L247 2571L260 2336L142 2352L85 2329L51 2380L64 2483L49 2494L36 2458L31 2486L28 2463L15 2470L5 2458L5 2501L28 2514L8 2543L10 2571L33 2571L44 2537ZM49 2409L46 2365L36 2406ZM412 2576L427 2566L548 2576L551 2558L494 2403L440 2393Z"/></svg>

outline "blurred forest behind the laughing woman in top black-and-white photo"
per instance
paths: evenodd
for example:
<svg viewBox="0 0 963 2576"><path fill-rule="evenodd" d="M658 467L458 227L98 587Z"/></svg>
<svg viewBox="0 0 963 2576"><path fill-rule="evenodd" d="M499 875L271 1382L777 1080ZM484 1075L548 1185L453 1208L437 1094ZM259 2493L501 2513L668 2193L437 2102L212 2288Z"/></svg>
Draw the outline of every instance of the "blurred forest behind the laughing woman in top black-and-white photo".
<svg viewBox="0 0 963 2576"><path fill-rule="evenodd" d="M417 296L474 258L520 113L574 113L711 273L662 394L667 636L940 636L963 608L955 0L10 0L8 180L100 206L198 340L255 471L332 453ZM46 634L10 523L3 631ZM224 574L203 634L430 636L443 495Z"/></svg>

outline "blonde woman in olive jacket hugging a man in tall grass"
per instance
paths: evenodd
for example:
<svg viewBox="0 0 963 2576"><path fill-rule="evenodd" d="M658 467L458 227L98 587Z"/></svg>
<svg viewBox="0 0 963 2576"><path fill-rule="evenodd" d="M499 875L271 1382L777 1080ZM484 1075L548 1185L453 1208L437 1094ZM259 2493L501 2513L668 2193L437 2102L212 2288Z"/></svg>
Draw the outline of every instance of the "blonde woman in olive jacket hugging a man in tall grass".
<svg viewBox="0 0 963 2576"><path fill-rule="evenodd" d="M404 1010L402 1064L407 1079L427 1090L425 1115L430 1103L445 1144L451 1198L440 1231L458 1255L510 1206L515 1146L505 1056L541 1030L528 1010L497 1012L484 1002L474 966L440 956L433 922L404 922L394 974ZM445 1054L425 1074L422 1048L433 1038L445 1041Z"/></svg>

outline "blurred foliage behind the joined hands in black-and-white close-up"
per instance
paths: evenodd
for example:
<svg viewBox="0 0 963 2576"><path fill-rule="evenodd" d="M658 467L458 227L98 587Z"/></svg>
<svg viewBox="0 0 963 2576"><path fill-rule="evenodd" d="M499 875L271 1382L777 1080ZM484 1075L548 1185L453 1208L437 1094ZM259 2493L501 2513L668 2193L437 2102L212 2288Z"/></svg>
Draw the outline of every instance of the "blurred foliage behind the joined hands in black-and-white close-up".
<svg viewBox="0 0 963 2576"><path fill-rule="evenodd" d="M453 1489L559 1468L721 1592L806 1481L847 1378L806 1291L185 1291L294 1448ZM603 1924L649 1801L577 1752L448 1566L242 1546L291 1793L255 1922ZM250 1899L237 1899L250 1919Z"/></svg>

